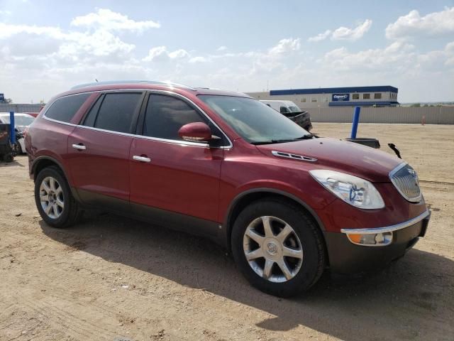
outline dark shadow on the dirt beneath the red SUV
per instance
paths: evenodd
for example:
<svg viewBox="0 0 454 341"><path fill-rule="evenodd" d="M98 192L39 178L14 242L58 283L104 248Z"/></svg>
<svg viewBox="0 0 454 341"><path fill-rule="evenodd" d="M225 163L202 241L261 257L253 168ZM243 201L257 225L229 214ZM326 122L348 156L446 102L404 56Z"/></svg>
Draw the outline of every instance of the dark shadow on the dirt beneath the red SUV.
<svg viewBox="0 0 454 341"><path fill-rule="evenodd" d="M343 340L453 335L454 262L429 252L412 249L374 275L326 273L308 293L280 299L250 287L231 257L207 239L97 211L69 229L43 221L40 227L55 241L107 261L264 310L275 316L257 324L267 330L304 325Z"/></svg>

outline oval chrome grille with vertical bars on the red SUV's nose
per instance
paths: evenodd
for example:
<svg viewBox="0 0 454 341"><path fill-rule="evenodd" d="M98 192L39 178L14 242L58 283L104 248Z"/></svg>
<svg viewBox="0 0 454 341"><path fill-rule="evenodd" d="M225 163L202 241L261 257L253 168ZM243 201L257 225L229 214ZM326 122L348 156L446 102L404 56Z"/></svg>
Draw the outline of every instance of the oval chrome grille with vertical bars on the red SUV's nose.
<svg viewBox="0 0 454 341"><path fill-rule="evenodd" d="M389 178L406 200L410 202L419 202L421 200L418 175L411 166L402 163L402 165L397 166L389 173Z"/></svg>

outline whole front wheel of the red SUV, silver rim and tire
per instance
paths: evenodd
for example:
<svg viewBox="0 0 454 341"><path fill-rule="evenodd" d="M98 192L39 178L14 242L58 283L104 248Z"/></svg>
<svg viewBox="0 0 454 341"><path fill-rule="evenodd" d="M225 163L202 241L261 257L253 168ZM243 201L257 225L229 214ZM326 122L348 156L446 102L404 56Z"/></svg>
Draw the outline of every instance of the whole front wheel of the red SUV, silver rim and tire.
<svg viewBox="0 0 454 341"><path fill-rule="evenodd" d="M325 266L323 237L301 207L278 199L245 207L233 224L233 257L250 283L275 296L310 288Z"/></svg>

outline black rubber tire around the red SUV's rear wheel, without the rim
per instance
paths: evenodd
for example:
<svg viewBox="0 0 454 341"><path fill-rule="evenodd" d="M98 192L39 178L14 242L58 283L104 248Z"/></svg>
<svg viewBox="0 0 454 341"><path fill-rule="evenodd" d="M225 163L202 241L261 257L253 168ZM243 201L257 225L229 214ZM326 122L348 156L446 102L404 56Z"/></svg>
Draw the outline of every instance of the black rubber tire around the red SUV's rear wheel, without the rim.
<svg viewBox="0 0 454 341"><path fill-rule="evenodd" d="M40 185L45 178L52 177L57 180L58 185L62 188L62 197L64 198L65 205L59 217L52 218L46 214L40 201ZM65 175L62 174L60 168L50 166L44 168L35 178L35 203L40 212L43 220L52 227L65 228L70 227L82 217L83 210L79 203L72 196L70 186L67 183Z"/></svg>

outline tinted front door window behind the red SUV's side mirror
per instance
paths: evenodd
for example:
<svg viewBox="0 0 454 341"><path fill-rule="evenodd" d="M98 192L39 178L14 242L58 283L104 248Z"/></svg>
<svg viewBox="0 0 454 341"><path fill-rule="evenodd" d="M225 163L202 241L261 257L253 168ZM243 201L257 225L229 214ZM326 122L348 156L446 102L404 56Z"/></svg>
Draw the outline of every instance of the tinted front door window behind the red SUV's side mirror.
<svg viewBox="0 0 454 341"><path fill-rule="evenodd" d="M184 124L204 122L204 119L182 99L153 94L150 96L143 122L145 136L181 140L178 130Z"/></svg>

